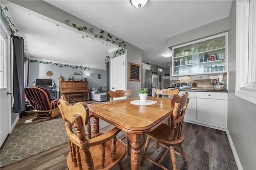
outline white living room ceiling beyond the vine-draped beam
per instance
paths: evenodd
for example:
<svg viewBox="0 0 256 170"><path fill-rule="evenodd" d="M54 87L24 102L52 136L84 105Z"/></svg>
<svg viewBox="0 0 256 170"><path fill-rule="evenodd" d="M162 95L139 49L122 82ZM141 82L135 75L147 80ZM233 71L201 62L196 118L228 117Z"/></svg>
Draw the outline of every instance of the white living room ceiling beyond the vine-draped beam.
<svg viewBox="0 0 256 170"><path fill-rule="evenodd" d="M25 39L29 58L105 69L105 56L112 46L82 38L82 35L28 13L8 7L8 16Z"/></svg>

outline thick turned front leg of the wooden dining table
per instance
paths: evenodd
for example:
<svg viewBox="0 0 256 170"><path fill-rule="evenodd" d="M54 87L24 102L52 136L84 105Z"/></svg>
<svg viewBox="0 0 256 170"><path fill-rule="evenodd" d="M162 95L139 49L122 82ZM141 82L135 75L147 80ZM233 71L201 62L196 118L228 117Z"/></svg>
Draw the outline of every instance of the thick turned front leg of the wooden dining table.
<svg viewBox="0 0 256 170"><path fill-rule="evenodd" d="M142 135L128 134L131 140L131 169L140 169L140 140Z"/></svg>

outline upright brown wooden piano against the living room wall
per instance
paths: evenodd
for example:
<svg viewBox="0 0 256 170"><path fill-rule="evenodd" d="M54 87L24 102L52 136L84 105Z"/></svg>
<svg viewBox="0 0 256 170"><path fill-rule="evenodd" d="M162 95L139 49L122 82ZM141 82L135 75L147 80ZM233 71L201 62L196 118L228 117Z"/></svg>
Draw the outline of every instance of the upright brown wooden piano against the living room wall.
<svg viewBox="0 0 256 170"><path fill-rule="evenodd" d="M59 81L59 96L64 95L67 102L89 101L88 82L83 81Z"/></svg>

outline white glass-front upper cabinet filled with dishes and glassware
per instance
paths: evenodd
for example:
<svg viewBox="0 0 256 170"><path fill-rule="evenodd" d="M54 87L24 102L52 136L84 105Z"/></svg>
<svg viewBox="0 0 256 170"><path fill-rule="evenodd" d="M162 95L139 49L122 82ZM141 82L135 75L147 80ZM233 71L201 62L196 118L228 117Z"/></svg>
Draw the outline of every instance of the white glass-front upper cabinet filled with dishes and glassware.
<svg viewBox="0 0 256 170"><path fill-rule="evenodd" d="M173 76L224 74L228 71L228 33L173 47Z"/></svg>

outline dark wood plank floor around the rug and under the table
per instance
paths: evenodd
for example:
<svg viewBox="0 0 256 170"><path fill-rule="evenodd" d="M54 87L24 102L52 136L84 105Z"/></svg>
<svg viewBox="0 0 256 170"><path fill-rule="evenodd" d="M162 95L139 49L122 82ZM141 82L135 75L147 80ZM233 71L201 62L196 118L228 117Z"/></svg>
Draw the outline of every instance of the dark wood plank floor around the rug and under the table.
<svg viewBox="0 0 256 170"><path fill-rule="evenodd" d="M182 159L176 156L178 169L238 169L226 132L185 123L184 134L185 141L183 145L189 165L185 167ZM149 148L147 154L156 160L159 160L165 151L163 147L156 149L152 140ZM64 143L1 169L68 169L66 164L68 152L68 143ZM123 162L124 169L130 169L130 157L125 155ZM163 164L166 167L172 167L169 153L165 157ZM118 169L118 167L114 169ZM141 169L155 170L159 168L145 160Z"/></svg>

